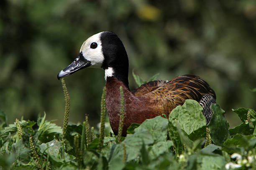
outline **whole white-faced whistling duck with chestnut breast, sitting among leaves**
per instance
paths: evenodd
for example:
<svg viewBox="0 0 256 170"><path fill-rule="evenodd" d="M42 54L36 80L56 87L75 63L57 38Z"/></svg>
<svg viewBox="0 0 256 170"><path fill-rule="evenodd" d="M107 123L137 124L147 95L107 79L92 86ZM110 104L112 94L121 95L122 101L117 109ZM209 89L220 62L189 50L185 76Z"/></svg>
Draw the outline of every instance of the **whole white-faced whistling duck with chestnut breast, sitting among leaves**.
<svg viewBox="0 0 256 170"><path fill-rule="evenodd" d="M128 56L123 42L114 32L100 32L89 37L80 49L78 57L61 70L58 79L82 68L98 65L105 70L106 106L110 125L117 135L120 113L120 86L123 87L125 117L123 136L133 123L169 113L186 99L193 99L203 107L207 124L212 117L210 105L216 95L205 80L196 75L181 75L171 81L155 80L131 91L128 82Z"/></svg>

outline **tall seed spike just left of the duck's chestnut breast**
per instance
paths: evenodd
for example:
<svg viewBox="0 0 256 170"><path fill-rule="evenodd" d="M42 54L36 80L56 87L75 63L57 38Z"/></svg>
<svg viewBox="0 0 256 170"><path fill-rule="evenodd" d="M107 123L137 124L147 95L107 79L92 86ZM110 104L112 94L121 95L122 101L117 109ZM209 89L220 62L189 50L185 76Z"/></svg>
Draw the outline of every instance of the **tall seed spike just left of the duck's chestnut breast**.
<svg viewBox="0 0 256 170"><path fill-rule="evenodd" d="M106 119L106 87L102 90L101 102L100 102L100 139L98 150L101 150L105 137L105 119Z"/></svg>

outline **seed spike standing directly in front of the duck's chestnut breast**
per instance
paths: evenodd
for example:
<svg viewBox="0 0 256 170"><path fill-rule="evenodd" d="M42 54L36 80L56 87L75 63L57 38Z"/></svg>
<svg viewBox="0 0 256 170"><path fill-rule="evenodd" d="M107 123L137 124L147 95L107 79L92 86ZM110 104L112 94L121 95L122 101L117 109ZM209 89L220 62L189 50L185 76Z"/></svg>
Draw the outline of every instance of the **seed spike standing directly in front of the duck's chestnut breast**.
<svg viewBox="0 0 256 170"><path fill-rule="evenodd" d="M123 133L123 120L124 120L124 98L123 98L123 87L120 86L120 119L118 127L117 143L121 142L121 136Z"/></svg>

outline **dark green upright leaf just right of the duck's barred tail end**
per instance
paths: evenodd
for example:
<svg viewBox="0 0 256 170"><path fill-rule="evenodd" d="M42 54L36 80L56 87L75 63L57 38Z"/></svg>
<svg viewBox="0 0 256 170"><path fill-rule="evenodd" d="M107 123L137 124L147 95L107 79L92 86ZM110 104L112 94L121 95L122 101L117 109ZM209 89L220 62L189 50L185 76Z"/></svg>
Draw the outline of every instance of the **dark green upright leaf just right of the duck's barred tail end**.
<svg viewBox="0 0 256 170"><path fill-rule="evenodd" d="M212 119L209 123L209 130L213 143L222 146L230 138L228 131L229 124L224 117L225 111L218 104L212 104L210 107L213 111Z"/></svg>

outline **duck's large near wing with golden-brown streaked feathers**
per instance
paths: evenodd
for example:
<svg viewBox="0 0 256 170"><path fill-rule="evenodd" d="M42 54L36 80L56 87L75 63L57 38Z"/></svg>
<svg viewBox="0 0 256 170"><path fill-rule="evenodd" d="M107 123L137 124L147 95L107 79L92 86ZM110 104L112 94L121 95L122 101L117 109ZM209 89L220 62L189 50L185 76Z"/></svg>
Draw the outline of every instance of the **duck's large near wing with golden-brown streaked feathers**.
<svg viewBox="0 0 256 170"><path fill-rule="evenodd" d="M203 98L205 95L208 97ZM152 103L155 103L156 107L154 109L156 111L159 110L159 112L165 113L167 116L176 106L183 105L185 100L193 99L197 102L203 101L205 104L200 104L204 110L206 107L206 111L208 110L207 113L203 114L205 117L206 115L211 117L212 113L209 105L215 103L216 100L216 95L212 88L205 80L196 75L178 76L145 96L151 98ZM208 118L207 122L209 120Z"/></svg>

